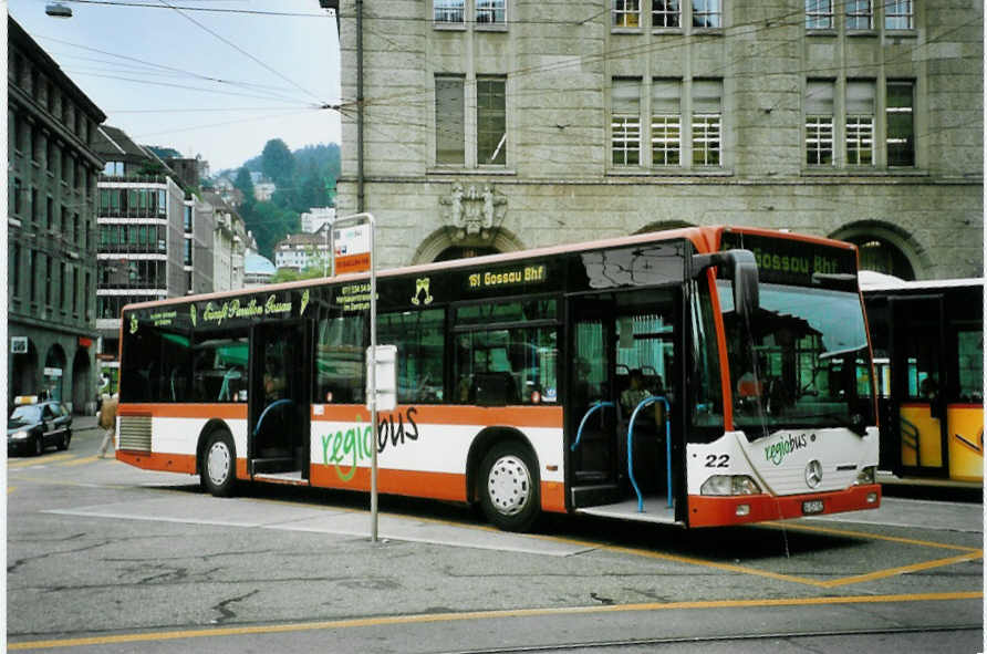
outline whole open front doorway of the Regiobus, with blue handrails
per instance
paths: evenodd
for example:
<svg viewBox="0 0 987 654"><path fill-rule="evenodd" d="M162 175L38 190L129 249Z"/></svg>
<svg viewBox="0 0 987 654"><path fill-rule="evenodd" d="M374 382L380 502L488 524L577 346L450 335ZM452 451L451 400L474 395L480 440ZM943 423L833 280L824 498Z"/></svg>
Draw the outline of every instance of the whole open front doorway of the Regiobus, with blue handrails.
<svg viewBox="0 0 987 654"><path fill-rule="evenodd" d="M575 508L627 501L636 485L648 498L647 512L664 511L666 435L674 446L677 433L667 421L674 419L673 398L682 396L674 391L680 311L678 287L570 300L567 428ZM634 411L648 396L667 399L672 413L663 402L642 407L628 439ZM634 497L635 510L636 504Z"/></svg>

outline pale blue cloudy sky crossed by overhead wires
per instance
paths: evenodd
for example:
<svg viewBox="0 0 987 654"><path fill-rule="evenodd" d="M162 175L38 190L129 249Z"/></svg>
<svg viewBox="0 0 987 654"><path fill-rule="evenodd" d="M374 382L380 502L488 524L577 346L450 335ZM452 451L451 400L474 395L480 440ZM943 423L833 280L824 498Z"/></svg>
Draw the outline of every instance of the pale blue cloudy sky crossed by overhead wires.
<svg viewBox="0 0 987 654"><path fill-rule="evenodd" d="M340 102L336 21L319 0L61 0L69 19L45 15L54 1L7 4L104 124L137 143L201 155L215 173L271 138L292 150L341 142L339 113L314 108Z"/></svg>

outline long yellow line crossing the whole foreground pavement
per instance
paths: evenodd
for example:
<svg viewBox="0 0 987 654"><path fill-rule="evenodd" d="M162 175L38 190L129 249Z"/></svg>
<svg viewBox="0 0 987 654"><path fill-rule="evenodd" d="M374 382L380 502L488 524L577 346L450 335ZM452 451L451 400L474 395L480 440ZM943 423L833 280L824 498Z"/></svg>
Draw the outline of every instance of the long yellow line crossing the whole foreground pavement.
<svg viewBox="0 0 987 654"><path fill-rule="evenodd" d="M546 609L513 609L501 611L467 611L464 613L425 613L418 615L392 615L385 617L357 617L351 620L330 620L323 622L300 622L290 624L271 624L264 626L231 626L218 629L199 629L184 631L142 632L112 636L92 636L84 639L62 639L49 641L8 642L10 651L40 650L43 647L79 647L84 645L108 645L115 643L137 643L148 641L173 641L178 639L202 639L219 636L238 636L250 634L273 634L298 631L341 630L362 626L389 626L401 624L422 624L436 622L456 622L468 620L497 620L503 617L537 617L544 615L580 615L594 613L622 613L631 611L682 611L704 609L750 609L765 606L820 606L832 604L880 604L890 602L937 602L954 600L981 600L980 591L949 593L911 593L891 595L849 595L842 598L788 598L765 600L708 600L694 602L648 602L640 604L607 604L594 606L558 606Z"/></svg>

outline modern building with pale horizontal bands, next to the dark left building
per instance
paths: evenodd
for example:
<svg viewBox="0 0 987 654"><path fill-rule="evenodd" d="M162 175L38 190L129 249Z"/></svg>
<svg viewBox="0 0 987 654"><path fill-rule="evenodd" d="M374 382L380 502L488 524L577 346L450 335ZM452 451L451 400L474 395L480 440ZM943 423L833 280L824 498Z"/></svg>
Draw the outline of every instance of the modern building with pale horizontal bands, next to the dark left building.
<svg viewBox="0 0 987 654"><path fill-rule="evenodd" d="M152 150L116 127L97 132L93 147L105 166L96 214L96 328L101 364L113 378L125 304L212 290L212 214Z"/></svg>

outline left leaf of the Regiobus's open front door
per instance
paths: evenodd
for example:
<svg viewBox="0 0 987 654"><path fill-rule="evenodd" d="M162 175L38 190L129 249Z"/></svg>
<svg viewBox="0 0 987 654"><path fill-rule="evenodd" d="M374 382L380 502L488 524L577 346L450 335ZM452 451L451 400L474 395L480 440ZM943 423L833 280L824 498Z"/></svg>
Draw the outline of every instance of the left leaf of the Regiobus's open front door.
<svg viewBox="0 0 987 654"><path fill-rule="evenodd" d="M617 397L611 345L614 308L609 294L578 298L569 304L573 355L569 365L565 429L573 471L571 486L595 487L592 492L595 499L584 497L585 491L575 494L574 497L582 496L582 502L617 499Z"/></svg>

